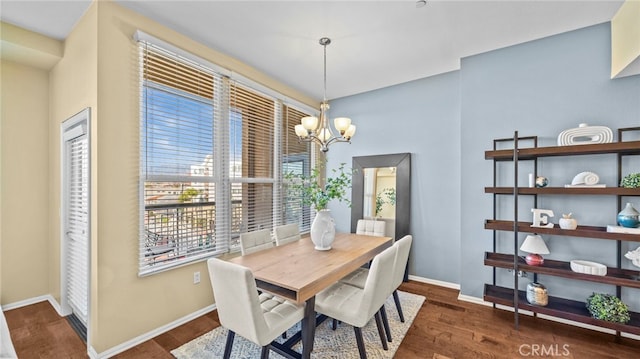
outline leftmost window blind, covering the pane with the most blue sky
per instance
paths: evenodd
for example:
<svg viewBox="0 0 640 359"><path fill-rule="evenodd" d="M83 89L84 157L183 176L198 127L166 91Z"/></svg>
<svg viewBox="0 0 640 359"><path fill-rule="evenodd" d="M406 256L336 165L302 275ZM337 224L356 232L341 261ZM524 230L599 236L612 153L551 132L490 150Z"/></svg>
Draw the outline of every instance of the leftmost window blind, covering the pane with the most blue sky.
<svg viewBox="0 0 640 359"><path fill-rule="evenodd" d="M216 126L224 82L193 61L141 44L141 163L144 211L139 273L228 250L217 202ZM217 171L216 171L217 170Z"/></svg>

